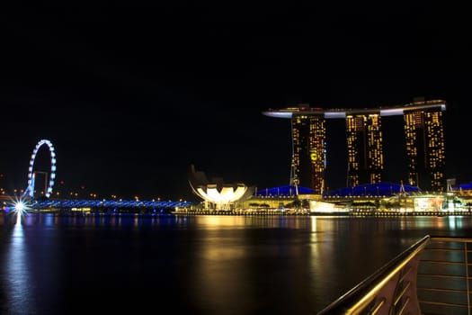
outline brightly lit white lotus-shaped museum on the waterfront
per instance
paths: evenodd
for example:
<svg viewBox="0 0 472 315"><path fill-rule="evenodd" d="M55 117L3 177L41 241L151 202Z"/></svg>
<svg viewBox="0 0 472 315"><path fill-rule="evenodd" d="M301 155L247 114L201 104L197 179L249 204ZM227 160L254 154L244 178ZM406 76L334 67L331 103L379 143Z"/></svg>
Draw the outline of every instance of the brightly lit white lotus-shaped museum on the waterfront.
<svg viewBox="0 0 472 315"><path fill-rule="evenodd" d="M194 166L189 169L189 183L193 193L205 201L205 208L231 210L236 202L244 201L254 192L254 187L245 184L225 184L223 179L208 180L203 172L196 172Z"/></svg>

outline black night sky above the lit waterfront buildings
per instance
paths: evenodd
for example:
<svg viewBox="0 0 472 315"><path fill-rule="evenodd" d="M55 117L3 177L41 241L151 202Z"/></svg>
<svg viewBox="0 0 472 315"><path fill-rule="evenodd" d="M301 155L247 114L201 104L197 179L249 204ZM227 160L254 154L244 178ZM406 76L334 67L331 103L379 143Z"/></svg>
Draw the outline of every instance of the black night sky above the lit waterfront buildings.
<svg viewBox="0 0 472 315"><path fill-rule="evenodd" d="M388 106L415 96L448 102L447 176L472 181L465 8L427 1L67 3L0 14L6 189L25 188L40 139L56 148L61 193L193 201L191 164L228 183L288 184L289 121L263 110L298 102ZM401 120L385 126L386 180L399 182ZM328 127L328 186L340 188L344 124ZM36 165L48 168L40 155Z"/></svg>

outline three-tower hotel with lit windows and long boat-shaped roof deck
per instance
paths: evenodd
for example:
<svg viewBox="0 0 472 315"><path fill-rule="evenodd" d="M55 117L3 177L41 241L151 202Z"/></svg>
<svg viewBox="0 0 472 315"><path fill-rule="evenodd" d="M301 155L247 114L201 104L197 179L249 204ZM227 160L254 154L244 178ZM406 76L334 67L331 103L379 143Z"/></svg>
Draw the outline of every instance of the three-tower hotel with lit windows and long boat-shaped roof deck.
<svg viewBox="0 0 472 315"><path fill-rule="evenodd" d="M292 161L290 184L325 193L326 120L346 121L347 184L380 183L384 172L382 119L403 115L408 184L423 191L446 187L442 100L414 100L401 106L366 109L328 109L299 104L269 109L264 115L291 120Z"/></svg>

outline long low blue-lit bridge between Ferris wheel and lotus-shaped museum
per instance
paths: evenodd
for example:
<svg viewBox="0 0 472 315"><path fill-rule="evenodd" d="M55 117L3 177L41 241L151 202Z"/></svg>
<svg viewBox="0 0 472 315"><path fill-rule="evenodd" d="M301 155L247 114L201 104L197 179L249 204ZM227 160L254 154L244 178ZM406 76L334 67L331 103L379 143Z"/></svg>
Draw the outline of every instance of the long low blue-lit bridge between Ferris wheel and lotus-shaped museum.
<svg viewBox="0 0 472 315"><path fill-rule="evenodd" d="M135 200L46 200L28 202L31 210L72 210L90 208L94 210L169 210L188 207L191 202L135 201Z"/></svg>

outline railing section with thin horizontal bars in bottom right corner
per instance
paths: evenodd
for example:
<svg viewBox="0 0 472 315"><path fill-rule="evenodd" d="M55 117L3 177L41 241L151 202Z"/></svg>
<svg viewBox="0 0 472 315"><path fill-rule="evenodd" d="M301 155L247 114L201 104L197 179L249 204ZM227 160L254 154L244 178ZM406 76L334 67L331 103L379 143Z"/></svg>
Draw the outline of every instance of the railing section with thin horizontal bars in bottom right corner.
<svg viewBox="0 0 472 315"><path fill-rule="evenodd" d="M432 237L423 249L417 274L422 314L471 313L472 238Z"/></svg>

